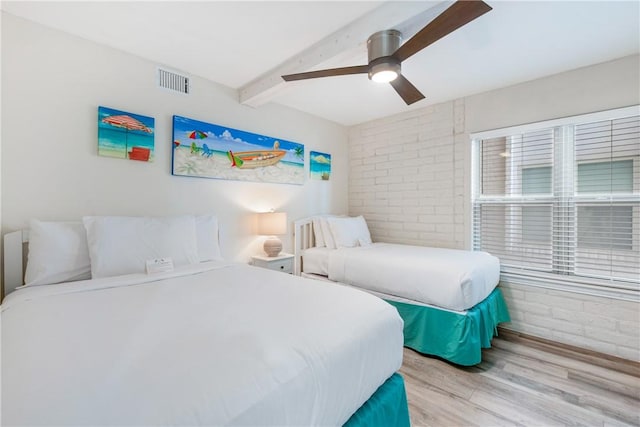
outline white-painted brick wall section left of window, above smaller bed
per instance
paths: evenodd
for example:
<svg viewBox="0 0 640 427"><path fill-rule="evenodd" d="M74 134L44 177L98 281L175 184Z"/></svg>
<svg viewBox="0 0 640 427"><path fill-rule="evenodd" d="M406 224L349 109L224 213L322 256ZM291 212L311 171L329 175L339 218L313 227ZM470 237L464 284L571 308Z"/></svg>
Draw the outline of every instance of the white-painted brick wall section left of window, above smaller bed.
<svg viewBox="0 0 640 427"><path fill-rule="evenodd" d="M462 101L353 127L350 214L374 240L465 247L468 146Z"/></svg>

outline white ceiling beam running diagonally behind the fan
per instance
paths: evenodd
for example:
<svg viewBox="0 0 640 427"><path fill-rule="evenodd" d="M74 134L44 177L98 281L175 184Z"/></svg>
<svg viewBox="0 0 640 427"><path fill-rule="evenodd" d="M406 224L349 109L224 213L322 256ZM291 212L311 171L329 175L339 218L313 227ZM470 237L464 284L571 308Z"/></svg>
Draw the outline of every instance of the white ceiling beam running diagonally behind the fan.
<svg viewBox="0 0 640 427"><path fill-rule="evenodd" d="M341 56L348 59L354 55L356 48L366 52L366 41L376 31L393 28L400 31L403 39L407 40L452 2L385 2L238 89L240 103L251 107L263 105L284 89L283 75L309 71L318 64L329 59L340 59Z"/></svg>

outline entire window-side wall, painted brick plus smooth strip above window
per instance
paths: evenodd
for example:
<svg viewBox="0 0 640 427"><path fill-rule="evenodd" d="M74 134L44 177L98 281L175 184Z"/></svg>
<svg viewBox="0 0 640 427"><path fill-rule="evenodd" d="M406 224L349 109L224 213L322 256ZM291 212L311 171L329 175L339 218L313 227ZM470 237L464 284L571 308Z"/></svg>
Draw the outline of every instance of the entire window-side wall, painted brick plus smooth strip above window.
<svg viewBox="0 0 640 427"><path fill-rule="evenodd" d="M622 58L349 130L349 213L374 240L470 248L470 133L640 104L640 57ZM640 360L640 304L501 284L506 327Z"/></svg>

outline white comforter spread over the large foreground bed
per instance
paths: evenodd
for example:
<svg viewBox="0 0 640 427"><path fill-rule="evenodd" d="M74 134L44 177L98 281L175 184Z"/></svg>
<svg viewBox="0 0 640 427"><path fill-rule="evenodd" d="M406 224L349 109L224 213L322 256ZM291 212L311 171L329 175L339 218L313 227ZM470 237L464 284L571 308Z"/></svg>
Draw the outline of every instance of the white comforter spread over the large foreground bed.
<svg viewBox="0 0 640 427"><path fill-rule="evenodd" d="M1 309L2 425L341 425L402 362L380 299L238 264L23 288Z"/></svg>

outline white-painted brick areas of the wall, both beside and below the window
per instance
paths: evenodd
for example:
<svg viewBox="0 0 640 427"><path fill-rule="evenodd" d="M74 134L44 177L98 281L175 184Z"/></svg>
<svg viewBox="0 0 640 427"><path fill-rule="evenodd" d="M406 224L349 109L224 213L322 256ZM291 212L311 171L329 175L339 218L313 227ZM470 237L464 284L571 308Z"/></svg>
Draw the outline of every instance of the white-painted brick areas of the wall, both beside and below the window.
<svg viewBox="0 0 640 427"><path fill-rule="evenodd" d="M366 218L374 241L469 248L470 158L464 100L355 126L349 133L349 213ZM506 328L640 360L638 302L501 287L513 319Z"/></svg>

